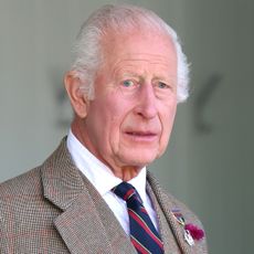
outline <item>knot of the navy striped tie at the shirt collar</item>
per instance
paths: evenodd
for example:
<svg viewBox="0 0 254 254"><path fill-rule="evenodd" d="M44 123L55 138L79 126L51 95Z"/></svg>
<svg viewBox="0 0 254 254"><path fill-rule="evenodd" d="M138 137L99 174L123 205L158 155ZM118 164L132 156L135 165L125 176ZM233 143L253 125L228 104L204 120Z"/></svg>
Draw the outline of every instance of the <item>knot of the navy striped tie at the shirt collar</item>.
<svg viewBox="0 0 254 254"><path fill-rule="evenodd" d="M113 189L113 192L125 201L128 201L131 198L139 199L139 201L141 201L136 189L128 182L121 182L120 184L116 186Z"/></svg>

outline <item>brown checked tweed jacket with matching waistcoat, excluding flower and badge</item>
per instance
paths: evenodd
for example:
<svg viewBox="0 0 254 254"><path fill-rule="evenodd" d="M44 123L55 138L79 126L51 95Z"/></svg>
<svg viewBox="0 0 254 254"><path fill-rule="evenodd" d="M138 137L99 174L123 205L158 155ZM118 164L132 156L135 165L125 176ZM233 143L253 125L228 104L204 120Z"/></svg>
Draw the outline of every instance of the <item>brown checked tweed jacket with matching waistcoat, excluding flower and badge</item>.
<svg viewBox="0 0 254 254"><path fill-rule="evenodd" d="M158 215L165 253L207 253L205 240L190 246L172 215L202 227L183 204L148 172L147 191ZM63 139L40 167L0 184L0 253L135 254L112 210L74 166Z"/></svg>

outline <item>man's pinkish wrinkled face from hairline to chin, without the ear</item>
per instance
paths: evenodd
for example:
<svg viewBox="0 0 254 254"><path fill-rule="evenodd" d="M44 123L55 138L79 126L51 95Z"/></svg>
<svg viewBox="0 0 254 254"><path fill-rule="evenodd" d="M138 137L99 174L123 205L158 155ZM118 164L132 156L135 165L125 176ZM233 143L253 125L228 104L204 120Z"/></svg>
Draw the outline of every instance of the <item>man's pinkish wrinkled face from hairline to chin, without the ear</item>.
<svg viewBox="0 0 254 254"><path fill-rule="evenodd" d="M177 108L176 51L168 36L140 31L112 34L103 46L82 139L113 170L139 169L168 145Z"/></svg>

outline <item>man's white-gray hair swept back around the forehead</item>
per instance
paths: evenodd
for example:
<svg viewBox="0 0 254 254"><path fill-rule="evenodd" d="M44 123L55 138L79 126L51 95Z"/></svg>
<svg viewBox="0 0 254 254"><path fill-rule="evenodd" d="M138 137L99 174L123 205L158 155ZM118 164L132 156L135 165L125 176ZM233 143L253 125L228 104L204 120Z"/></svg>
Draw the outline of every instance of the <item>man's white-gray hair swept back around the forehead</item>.
<svg viewBox="0 0 254 254"><path fill-rule="evenodd" d="M131 31L137 28L154 29L170 36L178 60L177 97L178 102L186 100L189 95L189 65L177 33L152 11L135 6L104 6L82 25L76 40L76 56L72 70L84 83L84 93L91 99L94 97L95 74L103 62L102 40L107 32Z"/></svg>

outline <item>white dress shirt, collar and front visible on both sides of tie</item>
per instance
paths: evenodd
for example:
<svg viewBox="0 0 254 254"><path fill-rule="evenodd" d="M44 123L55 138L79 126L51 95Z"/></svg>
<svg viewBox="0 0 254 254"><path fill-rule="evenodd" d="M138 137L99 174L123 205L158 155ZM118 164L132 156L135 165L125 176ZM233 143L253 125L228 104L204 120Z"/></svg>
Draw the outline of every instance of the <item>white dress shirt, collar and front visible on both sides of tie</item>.
<svg viewBox="0 0 254 254"><path fill-rule="evenodd" d="M92 182L105 202L112 209L117 220L129 235L129 216L126 202L112 192L112 189L119 184L123 180L115 177L113 171L91 154L70 130L67 136L67 149L72 156L75 166ZM138 191L142 199L144 205L158 230L156 212L152 208L149 195L146 192L146 168L142 168L137 177L128 181Z"/></svg>

